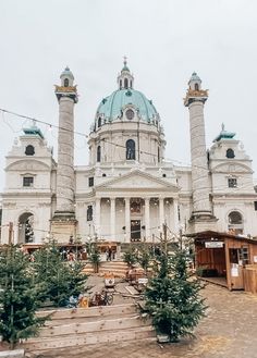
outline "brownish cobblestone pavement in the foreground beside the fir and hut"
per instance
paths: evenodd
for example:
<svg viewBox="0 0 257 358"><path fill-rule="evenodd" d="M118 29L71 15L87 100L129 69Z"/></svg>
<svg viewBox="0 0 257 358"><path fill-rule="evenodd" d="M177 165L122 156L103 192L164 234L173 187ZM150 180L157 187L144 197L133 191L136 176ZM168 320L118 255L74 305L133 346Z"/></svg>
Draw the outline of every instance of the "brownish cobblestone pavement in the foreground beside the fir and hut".
<svg viewBox="0 0 257 358"><path fill-rule="evenodd" d="M257 358L257 296L208 284L207 317L195 340L158 345L155 340L72 347L42 358Z"/></svg>

